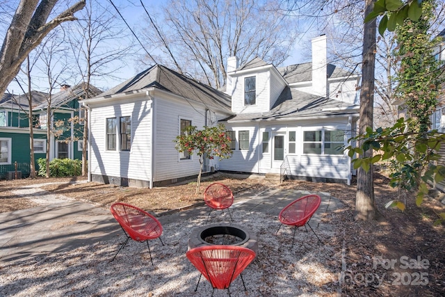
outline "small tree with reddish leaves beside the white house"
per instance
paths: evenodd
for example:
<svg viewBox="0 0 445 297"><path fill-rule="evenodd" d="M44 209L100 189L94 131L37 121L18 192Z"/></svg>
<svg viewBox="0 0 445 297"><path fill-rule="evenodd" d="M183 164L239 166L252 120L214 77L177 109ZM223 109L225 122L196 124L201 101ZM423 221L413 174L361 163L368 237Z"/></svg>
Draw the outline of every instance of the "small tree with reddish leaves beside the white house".
<svg viewBox="0 0 445 297"><path fill-rule="evenodd" d="M188 154L197 154L200 158L200 174L197 176L196 195L200 193L202 165L204 157L214 159L215 157L228 159L232 156L230 142L232 139L227 136L227 130L224 125L216 127L203 127L198 130L196 126L188 126L183 135L179 135L175 140L175 147L179 152L188 152Z"/></svg>

